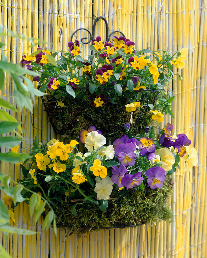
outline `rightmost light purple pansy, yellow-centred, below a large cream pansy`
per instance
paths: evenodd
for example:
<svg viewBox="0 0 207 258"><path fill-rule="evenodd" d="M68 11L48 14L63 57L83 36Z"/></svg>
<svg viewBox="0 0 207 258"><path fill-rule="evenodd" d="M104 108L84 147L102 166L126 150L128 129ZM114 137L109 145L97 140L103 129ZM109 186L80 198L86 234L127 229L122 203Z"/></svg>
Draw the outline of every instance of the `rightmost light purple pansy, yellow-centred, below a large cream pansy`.
<svg viewBox="0 0 207 258"><path fill-rule="evenodd" d="M150 167L145 175L148 177L147 184L152 189L161 188L163 182L166 181L165 171L162 167Z"/></svg>

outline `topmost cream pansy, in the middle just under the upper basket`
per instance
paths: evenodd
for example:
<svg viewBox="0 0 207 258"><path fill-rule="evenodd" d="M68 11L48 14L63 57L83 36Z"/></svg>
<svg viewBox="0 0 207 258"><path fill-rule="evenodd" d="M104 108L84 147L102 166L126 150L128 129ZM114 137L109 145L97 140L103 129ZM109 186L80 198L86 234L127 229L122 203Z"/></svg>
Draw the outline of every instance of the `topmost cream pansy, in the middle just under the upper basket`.
<svg viewBox="0 0 207 258"><path fill-rule="evenodd" d="M88 151L96 150L98 147L104 146L106 144L106 138L96 131L88 133L85 139L86 148Z"/></svg>

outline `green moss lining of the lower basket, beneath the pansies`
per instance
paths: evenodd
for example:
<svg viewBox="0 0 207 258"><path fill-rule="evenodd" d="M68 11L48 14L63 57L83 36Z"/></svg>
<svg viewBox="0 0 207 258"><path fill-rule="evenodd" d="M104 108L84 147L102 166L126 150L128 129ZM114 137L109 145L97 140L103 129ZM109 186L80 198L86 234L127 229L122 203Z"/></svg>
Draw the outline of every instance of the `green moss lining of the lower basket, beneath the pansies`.
<svg viewBox="0 0 207 258"><path fill-rule="evenodd" d="M162 188L151 189L146 187L144 191L135 190L128 192L126 197L116 202L117 194L111 194L109 206L102 212L97 205L84 203L77 205L77 215L71 213L74 202L58 203L54 208L59 227L68 228L72 233L85 233L93 227L111 227L114 224L145 224L161 220L170 220L172 211L169 208L169 197L172 194L173 181L166 176ZM45 213L49 211L46 207Z"/></svg>

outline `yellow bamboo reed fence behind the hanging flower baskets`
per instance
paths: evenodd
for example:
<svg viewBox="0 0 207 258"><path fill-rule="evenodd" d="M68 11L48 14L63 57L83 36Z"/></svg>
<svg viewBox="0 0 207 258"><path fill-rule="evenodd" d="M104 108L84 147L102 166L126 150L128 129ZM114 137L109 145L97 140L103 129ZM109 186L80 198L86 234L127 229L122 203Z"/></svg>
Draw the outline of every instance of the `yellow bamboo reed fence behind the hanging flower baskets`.
<svg viewBox="0 0 207 258"><path fill-rule="evenodd" d="M167 49L175 52L187 47L185 68L174 68L182 81L172 82L175 99L175 119L166 116L174 133L185 133L198 150L198 165L191 172L180 170L173 175L175 188L171 197L173 223L160 222L136 228L101 230L78 238L71 235L62 242L65 230L58 229L57 238L51 228L41 230L30 218L27 205L15 209L16 226L38 232L37 236L10 235L8 241L0 235L0 243L12 257L207 257L207 79L206 79L206 0L1 0L0 21L3 31L40 38L52 42L53 51L67 49L74 30L92 29L93 19L104 15L111 30L120 30L136 48ZM103 36L104 22L100 21L96 35ZM10 33L9 33L10 35ZM85 32L77 36L86 36ZM4 53L8 60L19 63L22 54L31 53L30 43L22 38L4 38ZM47 46L45 44L44 46ZM50 47L50 46L49 46ZM87 45L82 53L87 58ZM35 83L37 87L37 83ZM7 77L1 96L14 103L13 82ZM29 152L34 136L46 141L55 135L48 123L41 99L34 99L34 114L28 110L11 112L22 121L23 141L21 152ZM41 115L42 114L42 115ZM35 127L32 126L31 122ZM41 129L43 128L43 129ZM2 148L2 151L5 151ZM1 164L1 171L16 179L20 168ZM1 193L1 198L2 198Z"/></svg>

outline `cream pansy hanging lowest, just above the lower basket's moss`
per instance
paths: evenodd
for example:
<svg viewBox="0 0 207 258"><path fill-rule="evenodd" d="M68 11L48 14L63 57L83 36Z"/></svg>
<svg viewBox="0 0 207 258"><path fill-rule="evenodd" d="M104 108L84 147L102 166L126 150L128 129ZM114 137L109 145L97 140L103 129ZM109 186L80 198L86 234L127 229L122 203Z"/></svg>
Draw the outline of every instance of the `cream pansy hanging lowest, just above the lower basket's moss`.
<svg viewBox="0 0 207 258"><path fill-rule="evenodd" d="M97 193L98 199L108 200L109 196L113 190L113 182L111 181L111 178L109 176L106 176L103 179L100 179L99 176L95 178L96 180L96 186L94 189L94 192Z"/></svg>

